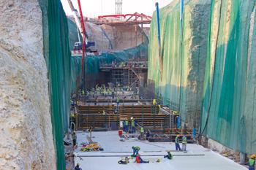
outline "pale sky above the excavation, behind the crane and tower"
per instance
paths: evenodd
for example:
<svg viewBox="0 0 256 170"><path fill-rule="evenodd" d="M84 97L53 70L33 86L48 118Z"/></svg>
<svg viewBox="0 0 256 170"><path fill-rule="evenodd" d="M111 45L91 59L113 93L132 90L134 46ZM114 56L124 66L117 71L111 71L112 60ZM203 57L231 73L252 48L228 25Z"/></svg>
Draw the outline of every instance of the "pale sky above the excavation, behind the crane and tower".
<svg viewBox="0 0 256 170"><path fill-rule="evenodd" d="M133 14L135 12L152 16L158 2L159 8L165 7L173 0L123 0L122 14ZM61 0L66 15L72 15L67 0ZM99 15L114 15L115 0L80 0L83 15L88 18ZM75 9L78 10L78 0L72 0ZM78 10L79 11L79 10Z"/></svg>

